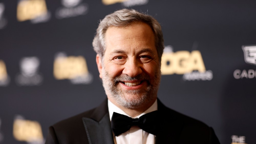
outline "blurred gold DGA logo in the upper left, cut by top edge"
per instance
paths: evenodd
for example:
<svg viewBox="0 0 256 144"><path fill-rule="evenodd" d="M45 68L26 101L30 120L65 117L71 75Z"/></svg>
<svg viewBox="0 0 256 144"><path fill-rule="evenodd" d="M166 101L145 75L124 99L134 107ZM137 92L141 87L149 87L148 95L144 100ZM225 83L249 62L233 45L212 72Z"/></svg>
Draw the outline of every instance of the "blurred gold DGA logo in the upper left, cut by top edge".
<svg viewBox="0 0 256 144"><path fill-rule="evenodd" d="M17 6L17 20L31 20L31 23L44 23L51 18L45 0L20 0Z"/></svg>

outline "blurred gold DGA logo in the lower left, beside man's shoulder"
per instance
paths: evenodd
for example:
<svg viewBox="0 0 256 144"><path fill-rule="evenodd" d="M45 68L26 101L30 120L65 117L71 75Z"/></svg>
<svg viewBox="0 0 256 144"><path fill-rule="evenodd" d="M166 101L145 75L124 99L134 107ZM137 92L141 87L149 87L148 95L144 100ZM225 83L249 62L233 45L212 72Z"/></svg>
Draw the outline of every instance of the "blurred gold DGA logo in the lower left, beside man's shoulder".
<svg viewBox="0 0 256 144"><path fill-rule="evenodd" d="M44 144L41 125L37 121L26 120L17 115L13 123L13 136L17 141L26 141L29 144Z"/></svg>

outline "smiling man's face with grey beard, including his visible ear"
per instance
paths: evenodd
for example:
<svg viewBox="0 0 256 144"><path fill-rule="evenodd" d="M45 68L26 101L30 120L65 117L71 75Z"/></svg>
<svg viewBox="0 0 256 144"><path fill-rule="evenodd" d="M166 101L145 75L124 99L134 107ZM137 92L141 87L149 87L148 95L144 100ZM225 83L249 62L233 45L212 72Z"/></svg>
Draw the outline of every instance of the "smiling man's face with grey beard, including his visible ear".
<svg viewBox="0 0 256 144"><path fill-rule="evenodd" d="M154 34L145 23L110 27L105 54L97 65L108 99L126 108L139 108L157 97L161 79Z"/></svg>

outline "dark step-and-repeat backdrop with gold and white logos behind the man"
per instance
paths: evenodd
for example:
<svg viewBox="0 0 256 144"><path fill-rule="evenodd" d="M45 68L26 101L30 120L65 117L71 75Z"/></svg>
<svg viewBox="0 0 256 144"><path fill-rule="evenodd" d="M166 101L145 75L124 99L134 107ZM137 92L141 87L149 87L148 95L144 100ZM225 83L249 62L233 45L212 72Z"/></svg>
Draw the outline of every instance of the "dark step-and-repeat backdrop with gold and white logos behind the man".
<svg viewBox="0 0 256 144"><path fill-rule="evenodd" d="M44 143L48 127L105 98L92 40L121 8L154 16L165 50L158 92L223 144L256 143L256 1L0 1L0 143ZM195 142L196 143L196 142Z"/></svg>

